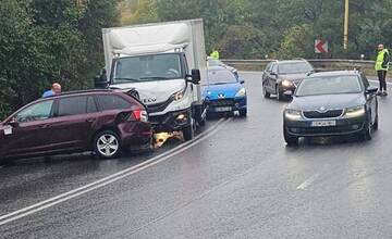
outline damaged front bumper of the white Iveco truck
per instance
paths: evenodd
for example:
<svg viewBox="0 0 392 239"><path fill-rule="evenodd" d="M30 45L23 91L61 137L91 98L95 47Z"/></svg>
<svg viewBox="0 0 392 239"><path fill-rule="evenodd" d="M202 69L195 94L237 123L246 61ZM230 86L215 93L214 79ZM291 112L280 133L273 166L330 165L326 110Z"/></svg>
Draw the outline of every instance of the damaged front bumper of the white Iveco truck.
<svg viewBox="0 0 392 239"><path fill-rule="evenodd" d="M169 112L163 115L150 115L149 121L155 133L177 131L191 124L191 109Z"/></svg>

